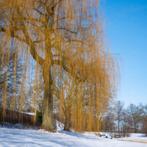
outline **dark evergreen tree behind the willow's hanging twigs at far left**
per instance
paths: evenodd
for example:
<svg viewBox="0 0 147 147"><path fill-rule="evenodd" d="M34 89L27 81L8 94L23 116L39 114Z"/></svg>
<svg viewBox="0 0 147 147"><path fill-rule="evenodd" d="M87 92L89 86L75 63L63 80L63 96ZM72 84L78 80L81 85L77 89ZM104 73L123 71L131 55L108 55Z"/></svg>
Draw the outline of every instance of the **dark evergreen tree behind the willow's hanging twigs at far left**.
<svg viewBox="0 0 147 147"><path fill-rule="evenodd" d="M4 56L6 57L8 55ZM19 97L23 64L21 60L17 58L16 52L10 55L8 62L3 64L2 62L3 61L0 61L0 106L2 105L4 85L7 83L5 92L7 96L7 108L10 108L10 102L13 101L12 99Z"/></svg>

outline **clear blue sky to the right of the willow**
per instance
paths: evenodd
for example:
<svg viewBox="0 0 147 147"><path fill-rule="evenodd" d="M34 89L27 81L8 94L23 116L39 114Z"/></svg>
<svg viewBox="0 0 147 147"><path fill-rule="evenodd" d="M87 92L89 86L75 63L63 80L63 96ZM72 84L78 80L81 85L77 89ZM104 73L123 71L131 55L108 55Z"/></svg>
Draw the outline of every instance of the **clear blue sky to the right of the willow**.
<svg viewBox="0 0 147 147"><path fill-rule="evenodd" d="M147 0L101 0L106 47L120 67L117 98L147 104Z"/></svg>

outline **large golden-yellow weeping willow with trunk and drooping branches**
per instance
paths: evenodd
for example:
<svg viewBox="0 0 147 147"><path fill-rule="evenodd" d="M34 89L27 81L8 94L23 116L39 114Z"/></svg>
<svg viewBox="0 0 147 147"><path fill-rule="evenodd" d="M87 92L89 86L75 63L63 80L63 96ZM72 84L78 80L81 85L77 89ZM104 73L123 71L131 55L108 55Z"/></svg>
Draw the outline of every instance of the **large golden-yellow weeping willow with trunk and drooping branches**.
<svg viewBox="0 0 147 147"><path fill-rule="evenodd" d="M113 96L115 64L103 47L97 9L98 0L0 0L2 53L15 48L35 61L47 130L55 129L55 99L67 128L92 130Z"/></svg>

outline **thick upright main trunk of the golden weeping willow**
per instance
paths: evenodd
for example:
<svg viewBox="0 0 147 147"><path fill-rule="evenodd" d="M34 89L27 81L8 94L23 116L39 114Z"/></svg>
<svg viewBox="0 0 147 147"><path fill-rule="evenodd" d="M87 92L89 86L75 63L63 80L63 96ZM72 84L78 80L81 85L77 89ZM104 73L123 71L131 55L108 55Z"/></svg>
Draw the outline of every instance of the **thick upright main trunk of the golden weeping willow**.
<svg viewBox="0 0 147 147"><path fill-rule="evenodd" d="M43 121L42 127L48 131L56 129L56 123L53 115L53 97L52 97L52 79L51 79L51 66L48 64L43 67L44 79L44 99L43 99Z"/></svg>

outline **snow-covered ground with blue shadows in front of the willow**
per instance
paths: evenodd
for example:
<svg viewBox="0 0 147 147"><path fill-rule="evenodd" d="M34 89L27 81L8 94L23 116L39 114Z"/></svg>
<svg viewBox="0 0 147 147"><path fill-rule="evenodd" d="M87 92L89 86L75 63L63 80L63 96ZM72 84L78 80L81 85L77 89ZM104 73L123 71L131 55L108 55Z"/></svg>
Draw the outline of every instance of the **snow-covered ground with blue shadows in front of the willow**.
<svg viewBox="0 0 147 147"><path fill-rule="evenodd" d="M0 127L0 147L147 147L147 142L135 142L137 138L142 137L105 139L93 133L48 133L43 130ZM144 140L147 141L147 138L144 137Z"/></svg>

